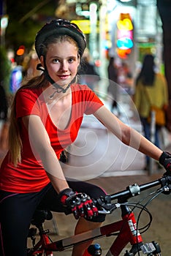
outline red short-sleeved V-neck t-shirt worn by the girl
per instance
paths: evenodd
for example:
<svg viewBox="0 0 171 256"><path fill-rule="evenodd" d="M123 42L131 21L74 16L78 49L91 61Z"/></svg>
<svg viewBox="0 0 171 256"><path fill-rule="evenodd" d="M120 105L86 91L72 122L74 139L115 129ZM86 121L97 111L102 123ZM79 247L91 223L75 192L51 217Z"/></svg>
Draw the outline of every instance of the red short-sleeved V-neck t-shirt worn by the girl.
<svg viewBox="0 0 171 256"><path fill-rule="evenodd" d="M28 131L24 127L21 117L28 115L40 116L49 135L51 146L59 158L61 151L77 138L77 133L83 121L83 114L92 114L103 105L102 101L88 86L73 84L71 89L72 111L66 129L58 129L53 124L42 95L42 89L20 89L18 91L16 95L16 117L20 124L20 137L23 143L22 158L18 166L14 167L9 162L7 153L0 169L0 189L20 193L38 192L50 182L41 162L31 150Z"/></svg>

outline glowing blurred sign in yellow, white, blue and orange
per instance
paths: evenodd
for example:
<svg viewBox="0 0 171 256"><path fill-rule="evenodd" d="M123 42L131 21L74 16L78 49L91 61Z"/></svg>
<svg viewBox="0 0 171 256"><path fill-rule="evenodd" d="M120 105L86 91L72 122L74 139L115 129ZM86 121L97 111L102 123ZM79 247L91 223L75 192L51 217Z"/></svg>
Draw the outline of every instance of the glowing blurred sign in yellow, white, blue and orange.
<svg viewBox="0 0 171 256"><path fill-rule="evenodd" d="M129 13L121 13L117 22L117 53L121 59L132 52L134 26Z"/></svg>

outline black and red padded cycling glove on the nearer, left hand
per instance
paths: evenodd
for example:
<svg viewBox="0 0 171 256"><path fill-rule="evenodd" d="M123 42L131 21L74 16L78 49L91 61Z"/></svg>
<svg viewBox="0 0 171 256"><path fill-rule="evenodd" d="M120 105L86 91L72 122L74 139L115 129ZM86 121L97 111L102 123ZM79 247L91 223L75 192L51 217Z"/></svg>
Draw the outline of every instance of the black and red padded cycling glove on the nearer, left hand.
<svg viewBox="0 0 171 256"><path fill-rule="evenodd" d="M75 219L79 219L79 217L92 219L92 217L98 215L98 209L91 197L86 193L77 193L72 189L64 189L58 196L62 205L71 209Z"/></svg>

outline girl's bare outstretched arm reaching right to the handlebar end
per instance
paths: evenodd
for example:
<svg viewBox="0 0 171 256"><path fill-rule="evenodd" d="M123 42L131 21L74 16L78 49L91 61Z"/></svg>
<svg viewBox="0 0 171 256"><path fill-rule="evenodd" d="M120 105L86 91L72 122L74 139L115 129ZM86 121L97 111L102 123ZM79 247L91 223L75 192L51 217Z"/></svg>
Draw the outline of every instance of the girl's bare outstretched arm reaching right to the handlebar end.
<svg viewBox="0 0 171 256"><path fill-rule="evenodd" d="M113 132L113 134L124 144L137 149L153 159L159 160L159 157L162 154L161 149L153 145L153 143L140 135L135 129L123 124L123 122L113 115L113 113L106 107L102 106L102 108L99 108L99 110L94 113L94 116L96 116L99 121L102 121L102 124Z"/></svg>

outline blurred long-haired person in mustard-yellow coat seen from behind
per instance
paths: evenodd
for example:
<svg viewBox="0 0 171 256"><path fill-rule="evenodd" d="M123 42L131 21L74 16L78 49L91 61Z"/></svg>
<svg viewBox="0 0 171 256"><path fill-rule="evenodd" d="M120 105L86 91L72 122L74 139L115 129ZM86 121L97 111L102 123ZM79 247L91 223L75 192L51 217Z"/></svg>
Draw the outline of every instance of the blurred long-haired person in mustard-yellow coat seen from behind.
<svg viewBox="0 0 171 256"><path fill-rule="evenodd" d="M140 114L140 120L145 138L151 140L151 124L148 116L151 114L151 105L167 109L168 91L164 75L156 72L154 56L147 54L142 62L142 69L137 75L134 93L134 104ZM156 124L155 145L160 148L159 131L161 127ZM145 169L149 168L149 157L146 160Z"/></svg>

